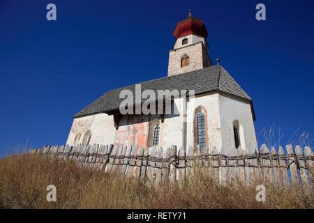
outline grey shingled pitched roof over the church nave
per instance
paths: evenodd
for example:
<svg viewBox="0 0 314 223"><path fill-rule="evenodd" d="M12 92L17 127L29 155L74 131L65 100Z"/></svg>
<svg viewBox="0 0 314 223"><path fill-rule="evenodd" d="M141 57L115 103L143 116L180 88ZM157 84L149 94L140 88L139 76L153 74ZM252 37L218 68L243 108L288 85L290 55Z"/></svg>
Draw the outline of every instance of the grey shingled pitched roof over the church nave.
<svg viewBox="0 0 314 223"><path fill-rule="evenodd" d="M157 93L157 90L194 90L195 95L211 91L220 91L236 95L237 97L250 102L252 101L250 96L241 89L239 84L237 84L229 73L222 66L218 65L186 72L180 75L154 79L140 84L142 91L151 89ZM124 98L119 98L119 93L124 89L133 91L133 94L135 95L135 84L108 91L75 114L74 118L103 112L110 113L119 109L120 103L124 100Z"/></svg>

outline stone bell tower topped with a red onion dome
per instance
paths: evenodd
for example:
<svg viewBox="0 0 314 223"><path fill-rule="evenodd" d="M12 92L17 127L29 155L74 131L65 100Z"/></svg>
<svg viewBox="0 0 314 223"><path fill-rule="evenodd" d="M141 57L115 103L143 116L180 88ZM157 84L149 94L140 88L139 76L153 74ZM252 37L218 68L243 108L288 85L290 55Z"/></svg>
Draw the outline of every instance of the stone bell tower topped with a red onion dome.
<svg viewBox="0 0 314 223"><path fill-rule="evenodd" d="M207 29L204 22L193 17L190 10L188 17L178 22L173 36L176 42L169 52L168 76L212 65L206 41Z"/></svg>

